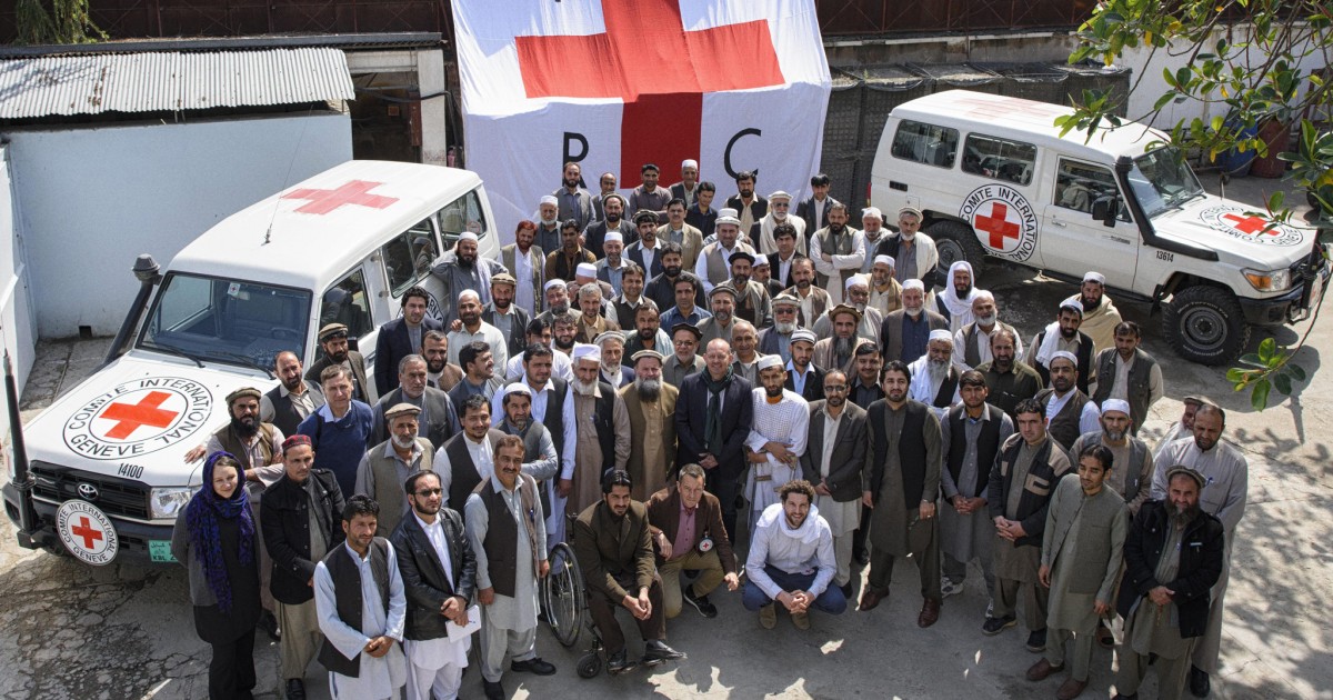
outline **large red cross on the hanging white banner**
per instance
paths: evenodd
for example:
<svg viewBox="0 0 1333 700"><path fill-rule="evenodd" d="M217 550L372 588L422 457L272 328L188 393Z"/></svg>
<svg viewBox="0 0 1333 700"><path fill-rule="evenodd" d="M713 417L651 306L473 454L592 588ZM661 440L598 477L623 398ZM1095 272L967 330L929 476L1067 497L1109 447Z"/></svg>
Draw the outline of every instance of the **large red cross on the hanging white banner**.
<svg viewBox="0 0 1333 700"><path fill-rule="evenodd" d="M678 0L601 0L607 31L588 36L519 36L519 71L529 99L619 97L620 183L639 168L670 172L700 157L704 93L781 85L764 20L685 31Z"/></svg>

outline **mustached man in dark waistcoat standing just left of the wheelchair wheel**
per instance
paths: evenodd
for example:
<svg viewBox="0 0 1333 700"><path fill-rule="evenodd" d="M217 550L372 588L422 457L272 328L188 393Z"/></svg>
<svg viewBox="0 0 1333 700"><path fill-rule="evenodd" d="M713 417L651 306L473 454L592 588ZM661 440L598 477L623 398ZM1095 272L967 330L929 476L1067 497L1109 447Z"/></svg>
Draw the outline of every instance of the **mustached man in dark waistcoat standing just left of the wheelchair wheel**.
<svg viewBox="0 0 1333 700"><path fill-rule="evenodd" d="M556 667L537 656L537 579L551 571L547 525L537 483L523 473L525 449L516 435L496 441L496 471L468 496L468 541L477 556L481 604L481 683L488 700L503 699L509 669L549 676Z"/></svg>

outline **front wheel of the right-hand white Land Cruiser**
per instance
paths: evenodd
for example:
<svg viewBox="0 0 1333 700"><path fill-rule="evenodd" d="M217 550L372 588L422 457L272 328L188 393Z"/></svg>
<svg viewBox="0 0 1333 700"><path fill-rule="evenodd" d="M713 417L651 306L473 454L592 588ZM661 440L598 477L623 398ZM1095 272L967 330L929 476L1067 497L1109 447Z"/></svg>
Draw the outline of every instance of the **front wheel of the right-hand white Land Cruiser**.
<svg viewBox="0 0 1333 700"><path fill-rule="evenodd" d="M1201 284L1173 295L1162 311L1162 333L1181 357L1220 365L1240 357L1250 325L1230 289Z"/></svg>

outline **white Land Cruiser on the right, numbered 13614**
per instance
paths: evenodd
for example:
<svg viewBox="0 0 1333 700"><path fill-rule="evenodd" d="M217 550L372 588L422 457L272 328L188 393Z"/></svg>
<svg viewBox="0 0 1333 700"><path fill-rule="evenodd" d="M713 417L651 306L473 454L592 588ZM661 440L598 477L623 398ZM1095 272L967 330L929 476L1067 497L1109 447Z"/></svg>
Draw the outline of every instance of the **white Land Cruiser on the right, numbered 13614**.
<svg viewBox="0 0 1333 700"><path fill-rule="evenodd" d="M904 103L880 139L872 203L921 209L944 269L986 257L1070 281L1096 269L1117 299L1161 305L1188 360L1229 363L1253 325L1309 315L1329 280L1313 231L1204 192L1156 129L1061 137L1053 121L1069 112L969 91Z"/></svg>

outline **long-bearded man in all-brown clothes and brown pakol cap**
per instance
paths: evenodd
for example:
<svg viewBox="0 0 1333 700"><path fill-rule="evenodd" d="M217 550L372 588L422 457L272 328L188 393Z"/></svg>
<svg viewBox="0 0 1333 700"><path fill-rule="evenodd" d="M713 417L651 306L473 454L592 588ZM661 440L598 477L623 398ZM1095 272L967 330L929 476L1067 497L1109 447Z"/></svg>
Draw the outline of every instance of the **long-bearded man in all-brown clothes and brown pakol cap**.
<svg viewBox="0 0 1333 700"><path fill-rule="evenodd" d="M629 416L631 496L647 501L676 471L676 399L680 389L663 381L663 356L644 349L631 357L635 381L620 388Z"/></svg>

